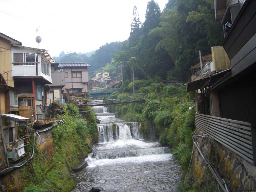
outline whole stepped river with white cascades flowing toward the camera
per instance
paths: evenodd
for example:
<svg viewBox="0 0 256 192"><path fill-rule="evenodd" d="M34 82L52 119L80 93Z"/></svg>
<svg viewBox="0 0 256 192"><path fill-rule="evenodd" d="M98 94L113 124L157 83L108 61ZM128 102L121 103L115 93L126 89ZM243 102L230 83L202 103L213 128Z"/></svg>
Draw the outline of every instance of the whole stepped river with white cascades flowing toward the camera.
<svg viewBox="0 0 256 192"><path fill-rule="evenodd" d="M77 189L92 187L105 192L176 191L181 179L180 166L174 163L168 147L140 134L140 122L124 122L108 112L108 107L93 107L98 124L98 143L85 161L88 167L75 173Z"/></svg>

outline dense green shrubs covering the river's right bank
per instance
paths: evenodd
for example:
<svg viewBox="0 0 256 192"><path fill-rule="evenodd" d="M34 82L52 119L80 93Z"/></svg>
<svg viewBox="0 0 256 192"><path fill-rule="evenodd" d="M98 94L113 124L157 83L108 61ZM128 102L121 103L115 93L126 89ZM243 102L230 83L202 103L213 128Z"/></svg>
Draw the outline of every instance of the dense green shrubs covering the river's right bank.
<svg viewBox="0 0 256 192"><path fill-rule="evenodd" d="M143 93L143 88L150 82L146 80L140 82L137 84L137 92ZM175 159L186 172L191 158L192 135L195 130L194 114L188 110L188 107L193 106L194 103L188 102L187 99L181 102L181 97L189 96L185 92L185 87L181 85L163 86L162 83L151 82L146 87L152 92L147 94L145 103L116 105L110 107L110 110L124 120L141 121L140 132L146 136L150 135L150 124L153 125L159 142L163 146L171 147ZM129 85L125 89L129 89ZM114 92L109 98L127 96L130 95Z"/></svg>

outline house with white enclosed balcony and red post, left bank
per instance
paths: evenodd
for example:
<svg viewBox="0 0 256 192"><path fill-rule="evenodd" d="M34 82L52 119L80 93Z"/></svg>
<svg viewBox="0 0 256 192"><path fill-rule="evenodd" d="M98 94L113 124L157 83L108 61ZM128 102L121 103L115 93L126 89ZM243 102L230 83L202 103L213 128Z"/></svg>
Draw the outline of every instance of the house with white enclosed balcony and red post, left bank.
<svg viewBox="0 0 256 192"><path fill-rule="evenodd" d="M34 120L43 119L40 105L46 104L46 84L52 84L51 63L55 61L45 49L22 45L12 47L12 78L14 87L21 91L18 95L19 106L33 111Z"/></svg>

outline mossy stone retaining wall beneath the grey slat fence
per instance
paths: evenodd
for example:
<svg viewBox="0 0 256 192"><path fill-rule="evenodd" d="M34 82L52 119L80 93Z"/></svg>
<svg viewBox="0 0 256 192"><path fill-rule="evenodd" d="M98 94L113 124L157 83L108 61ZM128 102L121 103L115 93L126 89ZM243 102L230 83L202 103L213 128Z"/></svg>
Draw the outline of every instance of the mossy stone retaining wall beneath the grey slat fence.
<svg viewBox="0 0 256 192"><path fill-rule="evenodd" d="M204 133L197 129L196 134L203 135ZM195 142L198 143L204 156L216 168L232 192L256 190L256 166L210 137L205 139L197 137ZM218 188L216 179L212 176L196 147L190 176L195 182L201 182L200 186L213 184Z"/></svg>

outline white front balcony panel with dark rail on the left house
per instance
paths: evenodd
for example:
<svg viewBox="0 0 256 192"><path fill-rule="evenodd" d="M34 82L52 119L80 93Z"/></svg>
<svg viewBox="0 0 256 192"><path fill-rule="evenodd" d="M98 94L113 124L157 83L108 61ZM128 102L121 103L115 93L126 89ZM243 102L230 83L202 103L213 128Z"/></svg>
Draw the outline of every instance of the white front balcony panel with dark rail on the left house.
<svg viewBox="0 0 256 192"><path fill-rule="evenodd" d="M37 75L37 63L13 63L13 76Z"/></svg>

